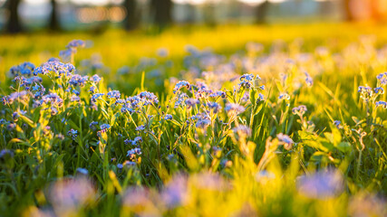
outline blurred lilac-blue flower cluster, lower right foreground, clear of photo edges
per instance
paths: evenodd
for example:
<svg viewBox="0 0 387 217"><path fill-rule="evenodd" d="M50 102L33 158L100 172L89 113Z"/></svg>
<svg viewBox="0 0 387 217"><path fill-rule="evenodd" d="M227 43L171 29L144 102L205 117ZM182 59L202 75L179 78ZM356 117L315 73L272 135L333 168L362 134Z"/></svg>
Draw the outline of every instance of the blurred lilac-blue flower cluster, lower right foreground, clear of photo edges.
<svg viewBox="0 0 387 217"><path fill-rule="evenodd" d="M343 192L343 176L334 170L303 175L297 180L297 189L310 198L330 198Z"/></svg>

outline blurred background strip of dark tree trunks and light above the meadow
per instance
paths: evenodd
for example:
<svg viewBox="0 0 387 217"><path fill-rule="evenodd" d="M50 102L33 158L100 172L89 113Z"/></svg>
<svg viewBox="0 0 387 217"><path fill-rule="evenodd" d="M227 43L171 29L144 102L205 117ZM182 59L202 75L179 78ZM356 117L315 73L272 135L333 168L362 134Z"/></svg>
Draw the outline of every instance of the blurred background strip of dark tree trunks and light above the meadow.
<svg viewBox="0 0 387 217"><path fill-rule="evenodd" d="M386 0L0 0L1 33L386 18Z"/></svg>

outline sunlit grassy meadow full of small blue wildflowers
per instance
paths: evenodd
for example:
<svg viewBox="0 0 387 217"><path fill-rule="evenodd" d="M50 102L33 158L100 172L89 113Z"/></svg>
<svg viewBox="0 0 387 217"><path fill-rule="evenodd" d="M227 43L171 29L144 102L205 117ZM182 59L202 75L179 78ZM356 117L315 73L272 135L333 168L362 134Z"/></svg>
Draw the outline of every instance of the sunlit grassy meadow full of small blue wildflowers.
<svg viewBox="0 0 387 217"><path fill-rule="evenodd" d="M387 26L0 36L0 215L386 216Z"/></svg>

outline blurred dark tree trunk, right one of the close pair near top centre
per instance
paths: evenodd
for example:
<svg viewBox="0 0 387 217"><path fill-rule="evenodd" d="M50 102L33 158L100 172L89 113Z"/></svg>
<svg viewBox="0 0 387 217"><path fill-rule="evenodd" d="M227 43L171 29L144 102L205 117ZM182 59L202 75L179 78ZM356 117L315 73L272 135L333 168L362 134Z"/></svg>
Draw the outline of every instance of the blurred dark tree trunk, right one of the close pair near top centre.
<svg viewBox="0 0 387 217"><path fill-rule="evenodd" d="M153 22L161 28L172 23L172 0L150 0Z"/></svg>

